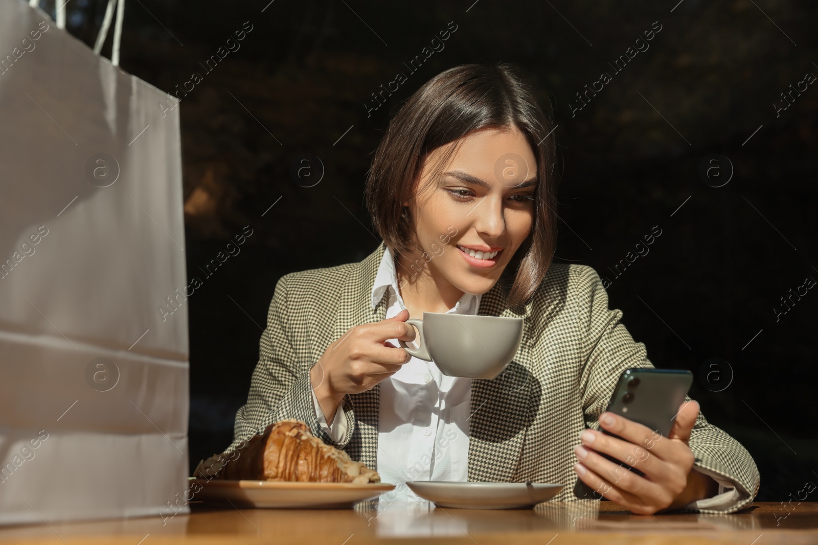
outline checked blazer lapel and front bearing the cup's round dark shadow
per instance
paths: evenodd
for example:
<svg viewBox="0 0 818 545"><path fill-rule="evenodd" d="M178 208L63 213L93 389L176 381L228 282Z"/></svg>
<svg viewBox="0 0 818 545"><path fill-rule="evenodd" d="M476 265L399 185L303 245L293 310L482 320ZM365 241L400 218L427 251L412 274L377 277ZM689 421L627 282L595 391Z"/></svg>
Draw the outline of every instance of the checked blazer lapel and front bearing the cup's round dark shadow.
<svg viewBox="0 0 818 545"><path fill-rule="evenodd" d="M524 319L523 340L506 371L471 382L469 480L512 482L532 416L531 397L542 394L531 373L527 310L506 308L506 290L498 281L480 298L479 315Z"/></svg>

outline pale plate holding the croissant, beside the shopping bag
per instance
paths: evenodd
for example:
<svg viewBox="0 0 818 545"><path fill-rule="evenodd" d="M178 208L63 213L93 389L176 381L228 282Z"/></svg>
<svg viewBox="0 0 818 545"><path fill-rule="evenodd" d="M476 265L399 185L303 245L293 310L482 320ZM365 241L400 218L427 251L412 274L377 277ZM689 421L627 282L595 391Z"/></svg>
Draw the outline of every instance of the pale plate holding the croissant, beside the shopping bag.
<svg viewBox="0 0 818 545"><path fill-rule="evenodd" d="M395 488L385 483L302 483L275 480L207 480L190 478L201 489L193 496L204 502L236 507L335 508L377 498Z"/></svg>

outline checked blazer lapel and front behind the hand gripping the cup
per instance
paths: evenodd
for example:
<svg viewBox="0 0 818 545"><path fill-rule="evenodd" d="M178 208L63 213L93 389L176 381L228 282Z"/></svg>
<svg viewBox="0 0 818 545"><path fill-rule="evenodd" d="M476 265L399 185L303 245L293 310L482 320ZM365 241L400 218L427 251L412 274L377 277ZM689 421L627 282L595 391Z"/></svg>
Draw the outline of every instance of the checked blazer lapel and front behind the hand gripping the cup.
<svg viewBox="0 0 818 545"><path fill-rule="evenodd" d="M386 317L386 303L389 292L384 292L378 306L372 309L371 291L378 273L380 261L386 246L383 242L363 261L357 263L341 288L338 315L332 340L343 337L350 328L371 322L380 322ZM353 460L363 462L366 467L377 471L378 450L378 407L380 385L360 394L350 395L355 411L355 431L344 449Z"/></svg>

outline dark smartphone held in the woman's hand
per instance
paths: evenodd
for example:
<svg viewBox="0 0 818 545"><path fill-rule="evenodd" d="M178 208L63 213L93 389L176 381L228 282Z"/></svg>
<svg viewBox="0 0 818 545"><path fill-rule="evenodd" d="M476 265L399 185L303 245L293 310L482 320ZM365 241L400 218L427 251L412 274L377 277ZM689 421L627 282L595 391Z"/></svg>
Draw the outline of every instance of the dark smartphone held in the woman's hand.
<svg viewBox="0 0 818 545"><path fill-rule="evenodd" d="M684 402L691 384L693 373L686 369L625 369L619 375L605 410L667 436L676 420L679 405ZM600 431L622 439L601 427ZM645 475L635 467L630 467L606 453L599 454L628 471L633 471L639 476ZM602 494L591 489L579 478L573 487L573 494L582 499L602 498Z"/></svg>

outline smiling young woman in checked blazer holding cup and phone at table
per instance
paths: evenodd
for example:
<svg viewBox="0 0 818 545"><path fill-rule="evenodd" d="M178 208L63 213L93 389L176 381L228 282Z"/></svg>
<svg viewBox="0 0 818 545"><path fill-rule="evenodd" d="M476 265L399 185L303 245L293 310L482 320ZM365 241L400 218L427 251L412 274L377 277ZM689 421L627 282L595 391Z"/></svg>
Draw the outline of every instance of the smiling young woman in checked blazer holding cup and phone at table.
<svg viewBox="0 0 818 545"><path fill-rule="evenodd" d="M576 499L580 479L636 513L752 502L753 458L690 398L660 440L602 413L623 369L653 365L596 271L551 262L552 128L508 65L456 66L420 87L367 179L384 242L361 262L279 279L226 452L298 418L398 485L396 498L417 499L407 480L530 478L563 483L557 500ZM398 346L425 311L521 317L523 342L494 380L448 377Z"/></svg>

